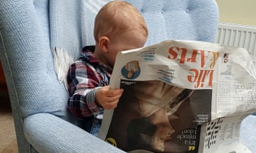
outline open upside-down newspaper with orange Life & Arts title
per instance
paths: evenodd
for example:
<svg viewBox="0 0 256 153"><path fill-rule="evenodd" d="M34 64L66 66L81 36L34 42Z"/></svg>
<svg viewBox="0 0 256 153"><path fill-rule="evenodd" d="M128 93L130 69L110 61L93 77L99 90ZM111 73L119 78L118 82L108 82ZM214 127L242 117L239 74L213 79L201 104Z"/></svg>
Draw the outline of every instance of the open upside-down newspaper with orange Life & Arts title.
<svg viewBox="0 0 256 153"><path fill-rule="evenodd" d="M249 153L239 135L256 111L255 62L245 49L198 41L119 52L110 87L124 94L98 137L133 153Z"/></svg>

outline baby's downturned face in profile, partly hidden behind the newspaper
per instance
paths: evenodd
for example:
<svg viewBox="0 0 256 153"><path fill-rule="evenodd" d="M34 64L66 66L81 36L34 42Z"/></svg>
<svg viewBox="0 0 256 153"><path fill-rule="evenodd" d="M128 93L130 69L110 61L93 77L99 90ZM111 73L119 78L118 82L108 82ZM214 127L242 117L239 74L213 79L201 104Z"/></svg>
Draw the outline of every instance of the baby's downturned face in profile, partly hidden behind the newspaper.
<svg viewBox="0 0 256 153"><path fill-rule="evenodd" d="M114 35L114 37L110 39L110 54L107 55L107 60L114 66L117 52L143 47L146 39L146 35L144 35L141 30L127 30L118 35Z"/></svg>

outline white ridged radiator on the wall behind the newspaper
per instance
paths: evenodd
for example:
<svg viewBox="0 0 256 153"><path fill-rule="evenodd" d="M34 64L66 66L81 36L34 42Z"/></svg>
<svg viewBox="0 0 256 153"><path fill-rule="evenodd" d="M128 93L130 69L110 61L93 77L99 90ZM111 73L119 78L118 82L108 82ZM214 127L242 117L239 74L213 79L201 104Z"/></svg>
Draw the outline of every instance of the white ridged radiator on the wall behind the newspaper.
<svg viewBox="0 0 256 153"><path fill-rule="evenodd" d="M256 55L256 26L219 23L216 43L243 47Z"/></svg>

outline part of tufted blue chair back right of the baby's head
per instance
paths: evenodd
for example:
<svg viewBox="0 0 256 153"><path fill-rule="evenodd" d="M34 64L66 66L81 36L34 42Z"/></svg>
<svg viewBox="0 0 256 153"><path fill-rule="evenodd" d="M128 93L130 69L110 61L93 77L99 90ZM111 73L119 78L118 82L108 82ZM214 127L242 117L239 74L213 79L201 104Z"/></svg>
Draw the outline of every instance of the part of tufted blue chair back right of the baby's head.
<svg viewBox="0 0 256 153"><path fill-rule="evenodd" d="M128 1L142 12L149 27L146 45L168 39L215 40L218 27L218 7L215 1Z"/></svg>

